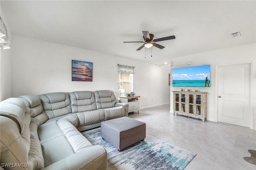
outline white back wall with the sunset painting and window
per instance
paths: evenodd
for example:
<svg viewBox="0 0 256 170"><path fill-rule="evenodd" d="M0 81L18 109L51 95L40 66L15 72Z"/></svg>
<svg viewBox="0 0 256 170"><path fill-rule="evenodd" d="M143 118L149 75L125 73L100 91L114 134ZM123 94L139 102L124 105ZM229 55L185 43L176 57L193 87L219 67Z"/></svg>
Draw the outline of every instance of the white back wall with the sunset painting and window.
<svg viewBox="0 0 256 170"><path fill-rule="evenodd" d="M72 59L93 63L92 82L71 80ZM82 90L114 90L118 94L117 64L135 66L133 89L141 96L141 108L170 103L169 66L155 66L18 35L12 35L12 96Z"/></svg>

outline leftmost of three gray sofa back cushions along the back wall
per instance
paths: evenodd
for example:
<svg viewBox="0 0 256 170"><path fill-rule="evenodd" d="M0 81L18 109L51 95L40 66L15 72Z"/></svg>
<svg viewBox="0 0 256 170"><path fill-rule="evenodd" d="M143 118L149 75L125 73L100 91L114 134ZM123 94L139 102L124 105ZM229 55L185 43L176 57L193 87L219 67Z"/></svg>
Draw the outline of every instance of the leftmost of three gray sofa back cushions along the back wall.
<svg viewBox="0 0 256 170"><path fill-rule="evenodd" d="M55 92L39 95L45 113L51 119L71 113L68 92Z"/></svg>

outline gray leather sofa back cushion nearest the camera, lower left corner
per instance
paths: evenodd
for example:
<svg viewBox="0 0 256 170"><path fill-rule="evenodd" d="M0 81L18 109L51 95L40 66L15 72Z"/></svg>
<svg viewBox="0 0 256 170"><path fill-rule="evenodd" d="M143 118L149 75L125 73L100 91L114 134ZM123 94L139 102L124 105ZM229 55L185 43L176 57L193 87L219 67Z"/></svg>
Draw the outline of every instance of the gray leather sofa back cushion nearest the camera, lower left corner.
<svg viewBox="0 0 256 170"><path fill-rule="evenodd" d="M0 103L1 163L29 166L30 115L19 98L9 98ZM27 169L27 168L26 168Z"/></svg>

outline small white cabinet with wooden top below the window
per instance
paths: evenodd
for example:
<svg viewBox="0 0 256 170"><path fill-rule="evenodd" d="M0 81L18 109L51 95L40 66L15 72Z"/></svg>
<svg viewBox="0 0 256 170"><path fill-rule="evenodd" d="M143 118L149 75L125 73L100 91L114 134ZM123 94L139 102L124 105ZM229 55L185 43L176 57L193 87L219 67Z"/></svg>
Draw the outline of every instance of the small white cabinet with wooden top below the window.
<svg viewBox="0 0 256 170"><path fill-rule="evenodd" d="M128 113L140 110L140 96L133 97L120 97L121 103L126 103L129 105Z"/></svg>

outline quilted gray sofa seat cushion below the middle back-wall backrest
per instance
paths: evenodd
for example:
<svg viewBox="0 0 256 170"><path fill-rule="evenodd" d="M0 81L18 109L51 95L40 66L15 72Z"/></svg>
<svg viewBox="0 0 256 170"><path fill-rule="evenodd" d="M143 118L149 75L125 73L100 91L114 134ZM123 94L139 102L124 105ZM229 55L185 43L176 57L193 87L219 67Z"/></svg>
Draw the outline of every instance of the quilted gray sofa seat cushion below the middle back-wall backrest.
<svg viewBox="0 0 256 170"><path fill-rule="evenodd" d="M105 114L103 109L83 111L75 113L78 117L78 126L90 125L92 123L98 123L104 121Z"/></svg>

